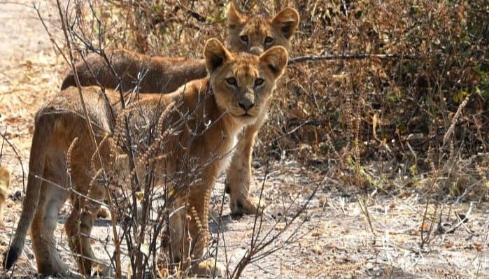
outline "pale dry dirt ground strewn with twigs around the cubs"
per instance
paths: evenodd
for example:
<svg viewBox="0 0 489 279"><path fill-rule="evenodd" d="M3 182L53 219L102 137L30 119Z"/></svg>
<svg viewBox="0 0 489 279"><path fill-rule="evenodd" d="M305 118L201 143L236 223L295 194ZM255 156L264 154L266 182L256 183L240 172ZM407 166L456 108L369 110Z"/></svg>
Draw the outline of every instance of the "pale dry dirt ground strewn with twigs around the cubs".
<svg viewBox="0 0 489 279"><path fill-rule="evenodd" d="M12 145L6 142L1 145L0 165L7 166L14 178L0 227L0 252L4 252L22 208L34 113L57 92L66 63L55 54L34 9L1 1L0 61L0 133ZM302 237L250 264L243 278L489 278L488 203L453 201L439 206L438 212L443 210L441 220L436 220L430 242L421 247L420 235L426 231L420 230L428 229L422 224L426 206L423 196L414 191L402 196L371 193L366 203L370 226L355 191L334 176L327 176L325 169L326 166L306 168L294 161L271 164L264 183L267 208L260 237L267 232L272 235L281 232L285 222L276 224L276 220L281 216L290 218L313 187L319 188L306 214L299 217L299 222L304 224L297 233ZM263 177L264 166L255 169L253 194L259 194ZM219 183L212 201L215 208L220 204L222 191ZM296 197L296 204L287 211ZM434 209L434 204L428 206L429 213ZM225 203L218 258L221 262L228 259L232 269L248 249L254 218L235 220L227 213L229 208ZM468 221L459 224L454 213L467 215ZM64 261L76 270L64 237L65 218L66 210L58 220L58 249ZM218 226L211 222L216 237ZM441 229L435 232L438 223ZM95 238L109 236L110 240L109 226L108 220L97 221ZM269 248L279 248L295 228L292 225L279 238L281 241ZM101 245L97 242L94 245L99 257L107 258ZM13 276L34 277L35 266L28 237ZM0 274L10 276L10 272Z"/></svg>

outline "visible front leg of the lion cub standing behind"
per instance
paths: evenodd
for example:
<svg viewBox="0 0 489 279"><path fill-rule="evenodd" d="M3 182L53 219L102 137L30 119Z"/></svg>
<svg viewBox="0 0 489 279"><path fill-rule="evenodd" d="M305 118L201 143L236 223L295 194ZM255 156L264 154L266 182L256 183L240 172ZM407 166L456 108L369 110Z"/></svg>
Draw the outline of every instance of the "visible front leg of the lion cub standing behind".
<svg viewBox="0 0 489 279"><path fill-rule="evenodd" d="M250 196L251 155L255 137L263 121L257 122L238 136L231 164L226 171L226 192L229 193L229 207L233 215L256 214L257 201Z"/></svg>

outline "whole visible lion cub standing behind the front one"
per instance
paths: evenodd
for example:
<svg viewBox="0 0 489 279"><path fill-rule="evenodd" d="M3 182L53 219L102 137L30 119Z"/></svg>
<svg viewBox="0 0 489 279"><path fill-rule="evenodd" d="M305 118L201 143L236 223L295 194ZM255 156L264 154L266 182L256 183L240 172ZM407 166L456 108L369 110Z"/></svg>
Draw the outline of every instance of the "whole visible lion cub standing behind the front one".
<svg viewBox="0 0 489 279"><path fill-rule="evenodd" d="M227 8L227 44L232 51L249 52L260 55L274 45L290 48L290 38L299 24L299 13L293 8L284 8L274 17L248 16L240 13L231 2ZM248 38L243 41L244 36ZM272 41L268 42L267 37ZM146 73L139 92L166 93L173 92L188 80L206 76L203 59L183 59L169 57L150 57L128 50L109 52L115 71L122 78L122 89L132 90L134 80L141 73ZM87 56L86 63L76 65L81 85L97 85L115 88L117 81L106 62L99 55ZM94 78L94 74L96 78ZM71 70L63 81L62 89L76 86ZM227 169L226 191L230 196L232 214L254 214L257 204L249 195L251 180L251 155L255 137L265 122L267 114L260 116L260 121L246 128L243 140L237 152L234 152L231 165Z"/></svg>

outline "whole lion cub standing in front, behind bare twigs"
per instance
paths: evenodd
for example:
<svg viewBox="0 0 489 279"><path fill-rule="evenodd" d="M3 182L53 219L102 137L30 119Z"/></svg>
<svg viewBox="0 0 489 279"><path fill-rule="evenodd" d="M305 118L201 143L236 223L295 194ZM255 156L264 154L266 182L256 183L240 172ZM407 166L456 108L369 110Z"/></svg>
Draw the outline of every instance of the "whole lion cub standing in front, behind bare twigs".
<svg viewBox="0 0 489 279"><path fill-rule="evenodd" d="M198 176L192 177L192 185L168 186L176 197L167 208L186 210L177 210L171 216L169 241L165 241L164 250L173 251L171 261L181 261L183 268L190 266L188 259L204 256L208 223L199 220L208 220L215 178L239 141L236 136L267 110L276 80L283 74L288 60L287 50L281 46L270 48L258 57L229 52L216 39L207 41L204 57L208 78L187 83L171 94L142 96L125 109L121 108L118 92L106 92L107 100L95 87L83 89L98 150L109 171L117 157L113 146L125 146L120 144L124 136L118 133L125 119L134 120L129 125L133 128L136 162L148 164L147 159L163 158L151 161L155 164L155 179L160 183L173 181L172 176L188 173L194 166L201 167ZM53 233L59 208L70 197L73 210L65 223L66 235L71 250L82 256L77 258L80 272L90 275L90 259L95 258L90 232L100 206L65 189L71 186L99 201L106 194L102 185L93 183L97 179L92 180L94 169L100 164L92 166L95 148L82 115L85 114L78 90L74 88L57 94L36 114L27 193L15 237L4 258L6 269L20 256L31 225L38 273L51 276L67 270L57 253ZM171 127L173 123L179 123L180 129ZM146 149L140 143L146 143ZM158 148L154 149L155 146ZM69 164L67 150L70 150ZM148 150L159 152L151 153L148 158ZM71 167L67 169L67 165ZM68 171L71 176L67 175ZM188 238L193 241L187 241ZM190 255L190 251L192 258L187 258L185 255ZM208 276L213 271L222 273L222 265L217 270L213 266L213 259L200 260L190 270L197 276Z"/></svg>

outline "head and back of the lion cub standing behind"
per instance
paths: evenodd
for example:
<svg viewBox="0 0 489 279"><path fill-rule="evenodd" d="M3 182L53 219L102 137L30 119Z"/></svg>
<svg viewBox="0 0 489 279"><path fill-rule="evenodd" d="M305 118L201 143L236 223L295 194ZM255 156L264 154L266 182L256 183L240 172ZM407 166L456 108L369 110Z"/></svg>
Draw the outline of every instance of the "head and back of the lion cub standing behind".
<svg viewBox="0 0 489 279"><path fill-rule="evenodd" d="M227 7L227 45L231 51L255 55L276 45L289 50L290 38L298 24L299 13L293 8L284 8L274 17L248 17L236 10L234 3L230 2ZM122 90L125 91L136 86L138 76L143 76L139 92L169 93L190 80L205 78L207 75L204 59L149 56L130 50L111 50L107 57L120 76ZM111 68L96 53L90 53L85 61L78 62L76 72L82 86L118 87L118 80ZM63 78L61 90L70 86L76 87L71 69Z"/></svg>

